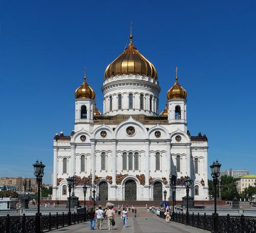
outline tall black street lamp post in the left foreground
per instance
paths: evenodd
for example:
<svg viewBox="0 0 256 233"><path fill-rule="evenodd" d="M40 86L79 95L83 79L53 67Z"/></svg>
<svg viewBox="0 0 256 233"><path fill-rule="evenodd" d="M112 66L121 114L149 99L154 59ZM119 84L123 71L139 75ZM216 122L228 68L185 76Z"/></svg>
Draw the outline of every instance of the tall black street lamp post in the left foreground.
<svg viewBox="0 0 256 233"><path fill-rule="evenodd" d="M37 215L36 215L36 233L40 233L40 187L42 184L42 176L44 176L44 164L38 163L38 160L33 164L34 175L36 176L37 183Z"/></svg>

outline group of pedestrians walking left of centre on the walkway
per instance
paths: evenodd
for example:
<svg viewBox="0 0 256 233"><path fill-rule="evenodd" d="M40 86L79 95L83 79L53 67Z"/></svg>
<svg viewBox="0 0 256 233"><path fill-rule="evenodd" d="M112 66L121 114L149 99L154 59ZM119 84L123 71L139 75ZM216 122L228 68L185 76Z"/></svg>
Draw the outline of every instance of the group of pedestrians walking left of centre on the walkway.
<svg viewBox="0 0 256 233"><path fill-rule="evenodd" d="M130 211L131 208L129 207ZM128 210L125 206L118 205L118 217L120 217L123 221L123 227L127 227L127 219L128 219ZM129 211L129 212L130 212ZM132 212L134 213L134 217L137 216L137 209L132 205ZM89 219L90 219L90 229L94 230L95 221L98 230L101 230L103 220L106 219L108 221L109 230L113 230L113 226L115 225L115 208L113 206L107 206L103 211L101 206L97 208L96 211L91 208L89 211Z"/></svg>

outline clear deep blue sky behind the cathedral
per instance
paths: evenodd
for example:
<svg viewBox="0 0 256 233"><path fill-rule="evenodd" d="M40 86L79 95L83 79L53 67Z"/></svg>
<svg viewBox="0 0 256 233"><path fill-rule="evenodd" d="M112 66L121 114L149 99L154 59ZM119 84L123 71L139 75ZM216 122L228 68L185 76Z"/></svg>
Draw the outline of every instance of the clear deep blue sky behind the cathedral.
<svg viewBox="0 0 256 233"><path fill-rule="evenodd" d="M191 135L206 134L209 164L256 173L255 1L1 1L0 176L51 182L53 137L69 135L74 91L100 91L106 66L134 43L158 70L160 106L175 82L188 92Z"/></svg>

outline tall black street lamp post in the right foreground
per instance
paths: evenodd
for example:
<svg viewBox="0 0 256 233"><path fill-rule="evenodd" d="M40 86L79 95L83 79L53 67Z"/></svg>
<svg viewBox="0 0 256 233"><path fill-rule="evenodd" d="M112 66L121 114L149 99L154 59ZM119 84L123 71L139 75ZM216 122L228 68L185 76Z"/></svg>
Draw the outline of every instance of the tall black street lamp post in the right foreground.
<svg viewBox="0 0 256 233"><path fill-rule="evenodd" d="M211 169L211 176L214 178L214 230L212 232L218 233L218 214L217 214L217 184L218 184L218 177L220 175L220 169L221 169L221 164L216 160L212 165L210 165Z"/></svg>

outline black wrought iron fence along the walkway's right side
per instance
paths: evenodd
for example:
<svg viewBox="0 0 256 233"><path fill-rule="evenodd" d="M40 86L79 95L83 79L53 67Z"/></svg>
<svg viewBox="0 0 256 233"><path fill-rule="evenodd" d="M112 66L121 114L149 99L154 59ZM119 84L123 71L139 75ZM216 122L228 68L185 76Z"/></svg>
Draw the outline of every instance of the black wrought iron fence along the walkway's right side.
<svg viewBox="0 0 256 233"><path fill-rule="evenodd" d="M165 218L164 211L160 211L160 218ZM186 214L183 213L173 213L171 221L186 223ZM230 217L218 216L218 232L219 233L255 233L256 232L256 219L246 218L244 215L241 217ZM213 230L213 216L212 215L200 215L189 214L188 215L188 225L201 228L204 230Z"/></svg>

